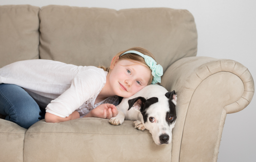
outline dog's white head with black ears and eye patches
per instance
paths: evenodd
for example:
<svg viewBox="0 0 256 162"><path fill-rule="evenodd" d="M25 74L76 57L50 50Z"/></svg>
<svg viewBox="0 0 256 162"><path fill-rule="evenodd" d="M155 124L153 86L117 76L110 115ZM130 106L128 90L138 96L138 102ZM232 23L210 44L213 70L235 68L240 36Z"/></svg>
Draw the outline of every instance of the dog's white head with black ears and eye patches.
<svg viewBox="0 0 256 162"><path fill-rule="evenodd" d="M150 131L157 145L170 144L177 118L176 101L175 91L151 98L137 97L128 100L128 110L132 108L142 114L141 122Z"/></svg>

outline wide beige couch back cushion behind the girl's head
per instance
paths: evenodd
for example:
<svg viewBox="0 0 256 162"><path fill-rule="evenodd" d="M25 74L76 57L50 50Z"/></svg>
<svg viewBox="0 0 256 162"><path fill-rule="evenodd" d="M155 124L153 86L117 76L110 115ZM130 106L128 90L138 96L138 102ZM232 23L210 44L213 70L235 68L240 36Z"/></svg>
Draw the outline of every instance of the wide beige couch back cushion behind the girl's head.
<svg viewBox="0 0 256 162"><path fill-rule="evenodd" d="M39 19L41 59L108 67L118 52L139 46L149 50L165 71L197 52L194 17L187 10L50 5L41 8Z"/></svg>

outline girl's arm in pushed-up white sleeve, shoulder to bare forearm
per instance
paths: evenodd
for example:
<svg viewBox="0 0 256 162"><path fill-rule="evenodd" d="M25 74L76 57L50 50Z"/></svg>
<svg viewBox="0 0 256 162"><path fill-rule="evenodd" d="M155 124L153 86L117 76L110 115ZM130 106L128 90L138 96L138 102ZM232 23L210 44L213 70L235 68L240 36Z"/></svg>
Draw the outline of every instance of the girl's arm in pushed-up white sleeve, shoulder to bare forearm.
<svg viewBox="0 0 256 162"><path fill-rule="evenodd" d="M106 81L103 75L105 74L94 69L77 74L72 79L71 87L47 105L46 122L61 122L78 118L78 112L76 113L75 110L101 89L104 80Z"/></svg>

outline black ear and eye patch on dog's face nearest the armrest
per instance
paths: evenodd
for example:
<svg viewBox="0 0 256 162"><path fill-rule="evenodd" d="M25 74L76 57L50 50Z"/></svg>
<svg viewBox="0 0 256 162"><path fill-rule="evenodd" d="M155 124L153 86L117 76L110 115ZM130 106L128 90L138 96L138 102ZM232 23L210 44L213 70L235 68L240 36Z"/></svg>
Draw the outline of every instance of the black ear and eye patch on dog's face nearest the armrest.
<svg viewBox="0 0 256 162"><path fill-rule="evenodd" d="M173 95L175 95L175 91L172 91L172 92L167 92L167 93L165 93L165 96L167 97L167 98L169 98L168 99L168 103L169 103L169 112L166 112L166 117L165 117L165 120L166 120L166 122L168 123L168 125L170 126L170 124L172 124L175 120L176 120L176 118L177 118L177 116L176 116L176 106L175 106L175 104L172 102L172 100L173 100ZM169 117L173 117L173 119L172 120L169 120Z"/></svg>

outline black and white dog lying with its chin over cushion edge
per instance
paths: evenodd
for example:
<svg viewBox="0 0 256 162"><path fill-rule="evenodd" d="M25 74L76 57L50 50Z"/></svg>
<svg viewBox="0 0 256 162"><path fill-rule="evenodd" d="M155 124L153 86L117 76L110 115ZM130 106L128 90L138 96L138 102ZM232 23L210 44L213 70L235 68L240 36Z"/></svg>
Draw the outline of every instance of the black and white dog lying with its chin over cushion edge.
<svg viewBox="0 0 256 162"><path fill-rule="evenodd" d="M176 122L175 91L168 92L164 87L151 84L129 98L123 98L116 106L118 114L109 122L121 125L124 120L134 120L135 128L149 130L157 145L170 144L172 129Z"/></svg>

